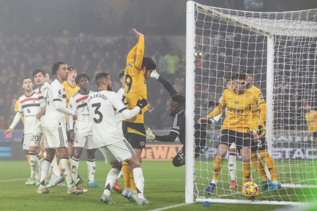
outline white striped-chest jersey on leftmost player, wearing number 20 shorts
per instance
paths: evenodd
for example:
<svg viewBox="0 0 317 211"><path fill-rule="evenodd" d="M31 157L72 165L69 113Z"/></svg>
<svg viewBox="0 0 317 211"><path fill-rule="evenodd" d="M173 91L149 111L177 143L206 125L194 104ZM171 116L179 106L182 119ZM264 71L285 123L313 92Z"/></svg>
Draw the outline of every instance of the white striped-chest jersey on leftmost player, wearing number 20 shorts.
<svg viewBox="0 0 317 211"><path fill-rule="evenodd" d="M24 134L42 133L40 120L36 117L39 111L38 93L34 92L31 96L22 95L19 97L18 112L24 115Z"/></svg>

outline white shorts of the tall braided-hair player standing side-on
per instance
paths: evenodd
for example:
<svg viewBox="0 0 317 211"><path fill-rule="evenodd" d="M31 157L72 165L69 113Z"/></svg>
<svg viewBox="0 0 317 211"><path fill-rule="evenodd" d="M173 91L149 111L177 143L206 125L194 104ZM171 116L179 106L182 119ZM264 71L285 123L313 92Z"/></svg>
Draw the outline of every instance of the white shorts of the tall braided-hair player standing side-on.
<svg viewBox="0 0 317 211"><path fill-rule="evenodd" d="M45 148L67 147L67 135L65 127L44 127L43 134Z"/></svg>

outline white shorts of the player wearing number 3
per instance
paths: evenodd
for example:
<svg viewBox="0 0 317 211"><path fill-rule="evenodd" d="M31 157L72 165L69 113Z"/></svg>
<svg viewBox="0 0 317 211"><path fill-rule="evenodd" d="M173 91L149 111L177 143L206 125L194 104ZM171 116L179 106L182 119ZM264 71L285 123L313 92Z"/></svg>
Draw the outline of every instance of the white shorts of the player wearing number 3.
<svg viewBox="0 0 317 211"><path fill-rule="evenodd" d="M99 150L103 154L106 163L113 163L116 160L119 162L129 160L136 154L126 139L100 147Z"/></svg>

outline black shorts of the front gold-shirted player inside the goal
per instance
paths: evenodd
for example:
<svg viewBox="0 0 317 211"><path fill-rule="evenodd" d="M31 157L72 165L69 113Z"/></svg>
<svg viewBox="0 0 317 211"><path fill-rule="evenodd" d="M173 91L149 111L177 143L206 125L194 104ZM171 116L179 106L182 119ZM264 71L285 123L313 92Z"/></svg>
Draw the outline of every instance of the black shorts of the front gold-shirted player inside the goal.
<svg viewBox="0 0 317 211"><path fill-rule="evenodd" d="M236 144L238 151L243 147L251 147L250 133L239 133L232 130L222 130L220 134L220 144L230 146L232 143Z"/></svg>

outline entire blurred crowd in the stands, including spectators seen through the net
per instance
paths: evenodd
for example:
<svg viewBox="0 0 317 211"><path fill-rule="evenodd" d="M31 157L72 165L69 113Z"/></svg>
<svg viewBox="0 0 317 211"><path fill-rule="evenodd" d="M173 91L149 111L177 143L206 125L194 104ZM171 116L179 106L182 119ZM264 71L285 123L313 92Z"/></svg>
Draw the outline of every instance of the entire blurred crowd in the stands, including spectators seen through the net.
<svg viewBox="0 0 317 211"><path fill-rule="evenodd" d="M163 36L147 36L145 42L145 56L152 57L157 64L158 73L171 82L179 94L184 95L185 52L172 48L171 43ZM218 35L214 39L197 38L197 43L201 43L196 45L201 52L196 55L197 118L207 115L217 106L226 79L240 69L252 67L254 84L266 96L266 66L262 65L266 64L266 49L263 40L255 36L236 36L227 40ZM96 74L107 72L112 78L113 90L117 91L121 86L119 71L125 68L126 56L135 44L133 37L120 35L113 41L103 42L83 33L76 38L68 38L66 42L50 36L34 38L30 34L22 38L13 36L10 39L1 39L0 129L8 128L12 121L15 115L14 103L20 96L21 80L23 77L32 78L34 69L43 68L50 74L54 62L64 61L69 66L75 66L79 74L86 73L91 78L91 90L97 89L94 81ZM287 62L284 58L279 61L279 65ZM280 77L275 81L275 127L298 129L296 125L305 125L303 102L307 101L309 96L317 96L315 70L309 70L308 75L303 75L290 65L278 69L283 71L278 72ZM308 84L309 87L302 84ZM34 84L35 88L37 87ZM169 129L172 120L168 109L169 94L153 78L147 80L147 89L148 101L152 107L145 114L145 124L153 129Z"/></svg>

